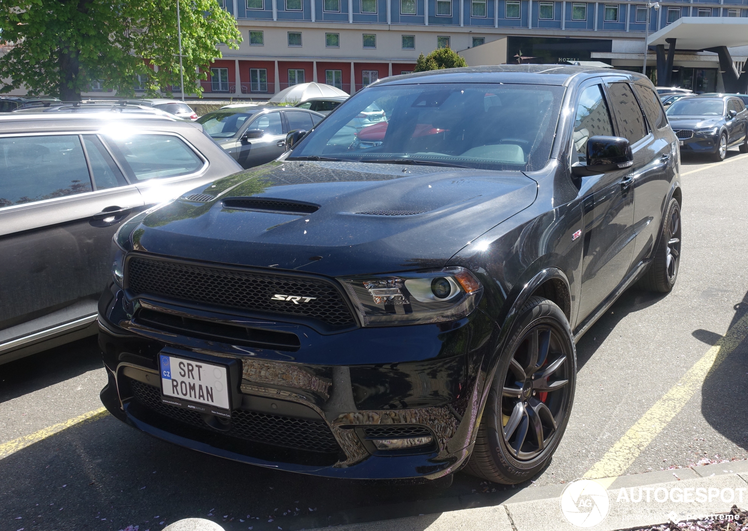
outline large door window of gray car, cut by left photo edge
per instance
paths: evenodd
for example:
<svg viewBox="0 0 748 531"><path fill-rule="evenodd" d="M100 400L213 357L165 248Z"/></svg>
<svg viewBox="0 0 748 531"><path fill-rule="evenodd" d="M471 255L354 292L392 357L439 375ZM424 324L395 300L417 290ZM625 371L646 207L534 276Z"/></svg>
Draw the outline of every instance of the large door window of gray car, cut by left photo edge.
<svg viewBox="0 0 748 531"><path fill-rule="evenodd" d="M90 191L77 134L0 138L0 208Z"/></svg>

